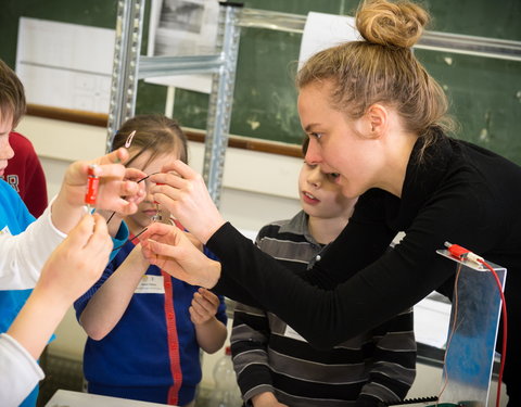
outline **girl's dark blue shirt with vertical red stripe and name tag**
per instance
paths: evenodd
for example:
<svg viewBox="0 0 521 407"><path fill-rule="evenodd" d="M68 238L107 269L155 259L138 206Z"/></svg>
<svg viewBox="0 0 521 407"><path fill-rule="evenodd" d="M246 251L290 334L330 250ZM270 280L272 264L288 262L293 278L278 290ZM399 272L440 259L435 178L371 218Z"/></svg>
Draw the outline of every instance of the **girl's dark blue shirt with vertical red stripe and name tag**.
<svg viewBox="0 0 521 407"><path fill-rule="evenodd" d="M75 303L78 320L92 295L134 247L128 241L101 279ZM89 392L185 405L194 398L201 381L200 347L188 310L199 287L156 266L150 266L145 276L154 276L160 290L135 292L114 329L100 341L87 340L84 372ZM216 317L226 325L224 297Z"/></svg>

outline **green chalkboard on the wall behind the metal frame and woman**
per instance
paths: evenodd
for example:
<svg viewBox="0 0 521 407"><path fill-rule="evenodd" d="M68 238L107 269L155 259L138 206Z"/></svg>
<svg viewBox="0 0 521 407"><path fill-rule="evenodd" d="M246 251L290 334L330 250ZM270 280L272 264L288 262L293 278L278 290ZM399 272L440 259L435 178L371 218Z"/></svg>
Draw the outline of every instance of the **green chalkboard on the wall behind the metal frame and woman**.
<svg viewBox="0 0 521 407"><path fill-rule="evenodd" d="M20 16L113 28L115 0L5 0L0 13L0 56L14 66ZM422 2L433 23L429 29L521 41L519 0L430 0ZM352 14L357 0L246 0L253 9L305 15L308 11ZM148 15L149 4L145 14ZM143 28L147 47L148 17ZM302 129L293 86L300 34L242 28L232 109L232 135L298 144ZM144 53L144 51L143 51ZM521 164L521 62L417 51L442 84L458 137ZM164 112L166 88L140 81L137 113ZM175 116L187 127L206 127L207 96L178 89Z"/></svg>

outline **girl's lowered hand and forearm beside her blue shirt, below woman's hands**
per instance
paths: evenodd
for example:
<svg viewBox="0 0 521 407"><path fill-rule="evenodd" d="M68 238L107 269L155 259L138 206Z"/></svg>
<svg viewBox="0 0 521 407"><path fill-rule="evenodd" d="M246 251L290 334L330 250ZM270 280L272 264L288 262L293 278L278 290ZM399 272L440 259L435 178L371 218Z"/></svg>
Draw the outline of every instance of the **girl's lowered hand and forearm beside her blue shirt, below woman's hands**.
<svg viewBox="0 0 521 407"><path fill-rule="evenodd" d="M208 354L220 349L226 341L226 326L215 317L219 304L217 295L201 288L193 294L189 308L199 346Z"/></svg>

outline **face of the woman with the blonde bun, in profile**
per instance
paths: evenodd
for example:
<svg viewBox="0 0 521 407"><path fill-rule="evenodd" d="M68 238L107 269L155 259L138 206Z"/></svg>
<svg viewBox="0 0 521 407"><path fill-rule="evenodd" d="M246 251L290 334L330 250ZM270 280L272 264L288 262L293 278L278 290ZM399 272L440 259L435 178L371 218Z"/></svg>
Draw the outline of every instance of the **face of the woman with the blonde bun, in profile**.
<svg viewBox="0 0 521 407"><path fill-rule="evenodd" d="M363 137L358 120L352 120L329 102L331 84L313 82L301 89L298 115L309 137L306 162L319 164L325 173L339 173L342 193L355 198L374 187L378 165L376 141Z"/></svg>

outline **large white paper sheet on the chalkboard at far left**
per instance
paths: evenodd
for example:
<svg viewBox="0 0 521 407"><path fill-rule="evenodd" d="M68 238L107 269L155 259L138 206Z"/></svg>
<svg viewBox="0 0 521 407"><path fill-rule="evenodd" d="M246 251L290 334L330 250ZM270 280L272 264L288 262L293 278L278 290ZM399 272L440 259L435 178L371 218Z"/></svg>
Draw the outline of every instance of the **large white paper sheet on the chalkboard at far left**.
<svg viewBox="0 0 521 407"><path fill-rule="evenodd" d="M28 103L109 113L115 30L20 18L16 74Z"/></svg>

